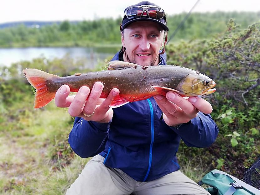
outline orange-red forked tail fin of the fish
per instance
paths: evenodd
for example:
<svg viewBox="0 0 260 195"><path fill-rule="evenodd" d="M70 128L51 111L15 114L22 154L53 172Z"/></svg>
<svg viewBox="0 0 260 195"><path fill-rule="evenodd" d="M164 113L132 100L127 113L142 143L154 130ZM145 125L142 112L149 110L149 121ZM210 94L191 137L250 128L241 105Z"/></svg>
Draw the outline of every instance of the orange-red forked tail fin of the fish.
<svg viewBox="0 0 260 195"><path fill-rule="evenodd" d="M51 78L59 76L31 68L23 70L23 74L36 89L34 108L44 107L55 97L56 92L50 91L48 84L51 82Z"/></svg>

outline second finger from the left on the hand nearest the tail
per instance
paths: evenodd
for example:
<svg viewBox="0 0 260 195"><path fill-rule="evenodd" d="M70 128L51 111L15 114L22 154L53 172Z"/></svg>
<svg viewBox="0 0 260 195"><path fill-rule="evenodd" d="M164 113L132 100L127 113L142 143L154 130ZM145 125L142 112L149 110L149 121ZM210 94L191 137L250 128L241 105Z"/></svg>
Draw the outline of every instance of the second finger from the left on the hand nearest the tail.
<svg viewBox="0 0 260 195"><path fill-rule="evenodd" d="M68 113L70 116L79 116L82 112L82 106L86 102L86 99L90 93L90 89L86 86L82 86L71 102Z"/></svg>

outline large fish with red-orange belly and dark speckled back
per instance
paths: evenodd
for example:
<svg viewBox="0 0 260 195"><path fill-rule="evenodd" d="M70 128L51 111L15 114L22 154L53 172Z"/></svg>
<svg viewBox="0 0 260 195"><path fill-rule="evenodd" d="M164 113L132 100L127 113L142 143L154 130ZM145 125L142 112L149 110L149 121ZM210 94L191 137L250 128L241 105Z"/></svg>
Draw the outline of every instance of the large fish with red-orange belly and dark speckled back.
<svg viewBox="0 0 260 195"><path fill-rule="evenodd" d="M208 95L216 91L213 88L216 83L211 78L182 66L141 66L111 61L107 70L65 77L31 68L24 69L23 74L36 89L34 108L47 105L65 84L71 92L78 92L82 86L92 89L95 82L102 82L104 88L100 98L106 98L113 88L118 88L120 93L112 99L111 108L158 94L165 96L169 91L177 92L182 97Z"/></svg>

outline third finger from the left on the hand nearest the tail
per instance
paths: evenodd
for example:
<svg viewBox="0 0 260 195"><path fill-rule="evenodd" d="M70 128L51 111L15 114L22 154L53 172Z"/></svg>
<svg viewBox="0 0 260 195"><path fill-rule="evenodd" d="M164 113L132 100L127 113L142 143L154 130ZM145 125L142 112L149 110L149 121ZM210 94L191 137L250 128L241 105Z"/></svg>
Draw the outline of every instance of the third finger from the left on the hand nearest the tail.
<svg viewBox="0 0 260 195"><path fill-rule="evenodd" d="M91 93L88 97L88 101L84 106L83 113L85 113L86 115L91 115L94 112L103 88L104 88L103 83L95 82L91 90Z"/></svg>

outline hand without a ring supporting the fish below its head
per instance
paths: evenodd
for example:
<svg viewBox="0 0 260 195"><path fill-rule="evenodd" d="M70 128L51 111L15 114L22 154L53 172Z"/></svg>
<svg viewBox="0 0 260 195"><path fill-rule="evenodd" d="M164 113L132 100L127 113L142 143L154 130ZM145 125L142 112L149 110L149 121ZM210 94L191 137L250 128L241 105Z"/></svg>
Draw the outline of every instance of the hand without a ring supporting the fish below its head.
<svg viewBox="0 0 260 195"><path fill-rule="evenodd" d="M154 99L163 111L163 119L169 126L188 123L190 119L197 116L199 111L205 114L212 112L211 104L200 97L185 99L178 93L167 92L166 97L156 95Z"/></svg>

